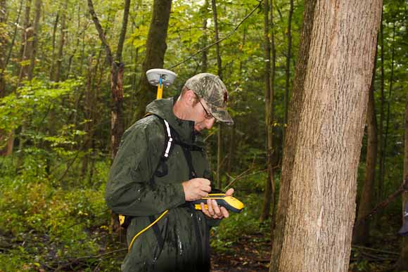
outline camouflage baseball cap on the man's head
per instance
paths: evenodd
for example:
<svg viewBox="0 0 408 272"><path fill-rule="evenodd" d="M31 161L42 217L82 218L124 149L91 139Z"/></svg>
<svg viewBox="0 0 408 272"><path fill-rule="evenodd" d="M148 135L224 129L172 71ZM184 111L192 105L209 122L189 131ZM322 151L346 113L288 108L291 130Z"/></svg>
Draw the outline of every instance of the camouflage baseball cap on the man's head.
<svg viewBox="0 0 408 272"><path fill-rule="evenodd" d="M208 108L215 119L228 125L234 124L233 119L227 112L227 88L219 77L204 72L187 79L184 87L207 102Z"/></svg>

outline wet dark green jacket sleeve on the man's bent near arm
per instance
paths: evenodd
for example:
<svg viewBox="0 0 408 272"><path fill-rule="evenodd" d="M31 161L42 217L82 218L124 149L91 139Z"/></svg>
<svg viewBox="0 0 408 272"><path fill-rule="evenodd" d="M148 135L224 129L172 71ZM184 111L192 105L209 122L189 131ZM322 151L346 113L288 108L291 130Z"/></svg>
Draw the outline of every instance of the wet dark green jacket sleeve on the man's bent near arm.
<svg viewBox="0 0 408 272"><path fill-rule="evenodd" d="M150 183L165 145L162 124L135 124L126 131L110 169L106 203L129 216L159 214L185 202L181 183Z"/></svg>

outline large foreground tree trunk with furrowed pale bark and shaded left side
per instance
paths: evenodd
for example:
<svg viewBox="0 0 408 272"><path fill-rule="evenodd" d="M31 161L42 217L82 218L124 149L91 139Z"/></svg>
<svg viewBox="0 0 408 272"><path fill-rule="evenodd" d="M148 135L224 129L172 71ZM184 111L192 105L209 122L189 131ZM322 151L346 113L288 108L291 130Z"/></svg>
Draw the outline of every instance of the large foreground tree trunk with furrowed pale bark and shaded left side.
<svg viewBox="0 0 408 272"><path fill-rule="evenodd" d="M348 271L382 1L306 1L270 271Z"/></svg>

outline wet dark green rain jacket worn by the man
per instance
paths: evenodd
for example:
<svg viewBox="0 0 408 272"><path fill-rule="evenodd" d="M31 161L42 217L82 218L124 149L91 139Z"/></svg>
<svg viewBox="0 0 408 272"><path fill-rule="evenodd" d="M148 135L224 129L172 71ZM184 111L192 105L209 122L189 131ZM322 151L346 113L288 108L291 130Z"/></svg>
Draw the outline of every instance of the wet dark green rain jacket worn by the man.
<svg viewBox="0 0 408 272"><path fill-rule="evenodd" d="M136 233L169 210L154 227L134 240L122 271L210 270L209 229L219 220L208 219L186 204L181 183L191 176L181 145L173 145L170 157L161 161L167 139L159 117L169 122L179 141L201 148L191 150L196 176L208 178L210 173L203 137L194 133L194 122L174 115L174 101L177 97L156 100L147 106L146 111L152 115L125 131L110 169L106 202L113 212L132 216L127 227L128 245ZM167 168L165 176L157 174L158 166L161 171Z"/></svg>

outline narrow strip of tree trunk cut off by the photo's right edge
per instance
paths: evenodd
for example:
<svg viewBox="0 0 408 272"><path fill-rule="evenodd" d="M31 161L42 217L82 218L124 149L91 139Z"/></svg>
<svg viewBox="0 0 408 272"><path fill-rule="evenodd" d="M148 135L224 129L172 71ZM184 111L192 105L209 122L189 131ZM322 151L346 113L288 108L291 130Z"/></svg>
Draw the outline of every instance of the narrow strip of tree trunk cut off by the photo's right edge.
<svg viewBox="0 0 408 272"><path fill-rule="evenodd" d="M408 77L407 77L408 78ZM408 80L407 80L408 83ZM405 137L404 137L404 179L408 176L408 84L407 98L405 101ZM402 193L402 211L408 203L408 192ZM404 223L404 212L402 212L402 223ZM400 259L397 262L398 271L408 271L408 237L402 238Z"/></svg>

